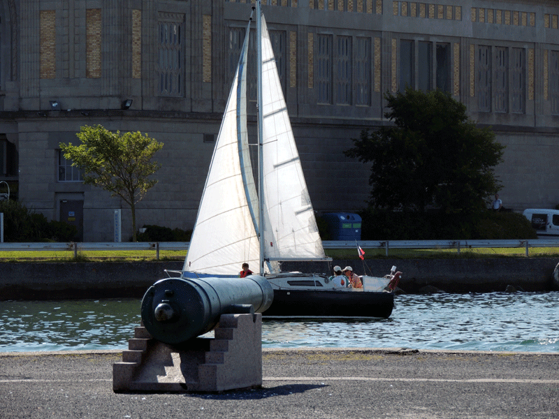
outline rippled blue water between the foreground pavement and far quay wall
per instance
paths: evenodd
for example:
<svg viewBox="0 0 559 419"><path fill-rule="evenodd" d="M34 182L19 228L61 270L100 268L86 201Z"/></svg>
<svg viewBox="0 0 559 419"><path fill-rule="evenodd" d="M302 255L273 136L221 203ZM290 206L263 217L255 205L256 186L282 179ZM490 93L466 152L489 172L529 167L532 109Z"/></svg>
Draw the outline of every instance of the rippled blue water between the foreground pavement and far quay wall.
<svg viewBox="0 0 559 419"><path fill-rule="evenodd" d="M265 348L559 352L559 293L398 295L386 320L263 321ZM0 351L124 349L140 300L0 302Z"/></svg>

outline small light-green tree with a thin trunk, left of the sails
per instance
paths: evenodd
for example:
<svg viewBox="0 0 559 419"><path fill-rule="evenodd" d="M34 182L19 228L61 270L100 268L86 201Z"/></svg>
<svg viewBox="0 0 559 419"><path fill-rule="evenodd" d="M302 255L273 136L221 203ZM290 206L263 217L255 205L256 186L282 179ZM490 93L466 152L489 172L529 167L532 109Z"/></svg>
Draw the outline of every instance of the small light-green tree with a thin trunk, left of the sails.
<svg viewBox="0 0 559 419"><path fill-rule="evenodd" d="M103 126L82 126L76 134L82 144L60 144L64 157L82 171L83 182L109 191L130 205L132 240L136 242L136 203L157 180L148 179L161 165L151 162L162 142L140 132L111 133Z"/></svg>

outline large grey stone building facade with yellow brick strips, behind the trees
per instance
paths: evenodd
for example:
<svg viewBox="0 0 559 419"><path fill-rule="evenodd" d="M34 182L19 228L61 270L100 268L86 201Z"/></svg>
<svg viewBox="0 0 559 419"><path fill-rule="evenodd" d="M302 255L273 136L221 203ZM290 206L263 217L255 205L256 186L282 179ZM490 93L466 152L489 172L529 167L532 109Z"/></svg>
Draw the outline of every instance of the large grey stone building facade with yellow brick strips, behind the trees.
<svg viewBox="0 0 559 419"><path fill-rule="evenodd" d="M343 152L363 128L387 123L383 95L406 85L449 91L493 127L506 146L496 168L505 207L559 204L557 1L263 3L315 210L365 207L370 168ZM140 131L164 148L138 227L192 228L252 6L2 0L0 180L88 242L111 241L122 208L127 240L128 207L82 184L59 144L75 144L84 125ZM249 83L255 134L254 70Z"/></svg>

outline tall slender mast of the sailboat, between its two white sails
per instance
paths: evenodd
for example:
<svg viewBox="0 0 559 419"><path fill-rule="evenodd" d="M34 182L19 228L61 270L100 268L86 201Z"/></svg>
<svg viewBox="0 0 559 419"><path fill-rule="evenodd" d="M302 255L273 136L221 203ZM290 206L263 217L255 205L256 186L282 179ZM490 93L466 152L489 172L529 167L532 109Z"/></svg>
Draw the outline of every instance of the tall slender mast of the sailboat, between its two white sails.
<svg viewBox="0 0 559 419"><path fill-rule="evenodd" d="M260 242L260 274L264 274L264 166L263 166L263 121L262 115L262 10L261 0L256 0L256 68L258 78L256 82L258 90L257 112L258 112L258 184L259 184L259 242Z"/></svg>

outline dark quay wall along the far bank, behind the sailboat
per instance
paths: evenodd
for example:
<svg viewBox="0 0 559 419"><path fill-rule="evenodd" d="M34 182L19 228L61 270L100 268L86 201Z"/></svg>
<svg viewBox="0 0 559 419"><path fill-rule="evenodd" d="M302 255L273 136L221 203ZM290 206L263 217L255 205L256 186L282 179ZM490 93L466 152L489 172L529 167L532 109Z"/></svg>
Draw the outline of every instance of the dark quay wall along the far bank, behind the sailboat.
<svg viewBox="0 0 559 419"><path fill-rule="evenodd" d="M354 272L382 277L393 265L402 272L405 293L502 292L507 286L530 292L553 291L556 258L449 258L333 260L283 263L282 270L331 274L331 267L351 265ZM182 270L182 261L92 263L0 263L0 300L142 297L166 270Z"/></svg>

